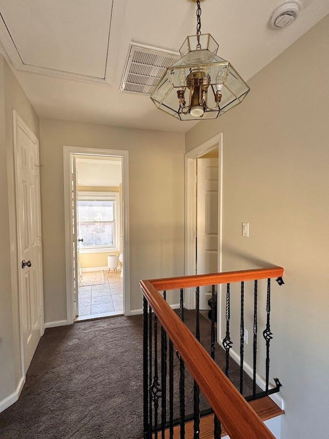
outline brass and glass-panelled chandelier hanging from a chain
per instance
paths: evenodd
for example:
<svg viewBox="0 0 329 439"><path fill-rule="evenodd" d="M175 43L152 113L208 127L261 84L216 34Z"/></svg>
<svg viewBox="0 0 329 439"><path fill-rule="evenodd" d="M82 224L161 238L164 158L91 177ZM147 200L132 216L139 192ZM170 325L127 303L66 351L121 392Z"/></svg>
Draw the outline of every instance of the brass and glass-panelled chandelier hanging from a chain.
<svg viewBox="0 0 329 439"><path fill-rule="evenodd" d="M151 95L159 109L179 120L216 119L250 90L233 66L217 56L210 33L201 33L200 0L196 3L196 35L187 37L180 60L167 68Z"/></svg>

